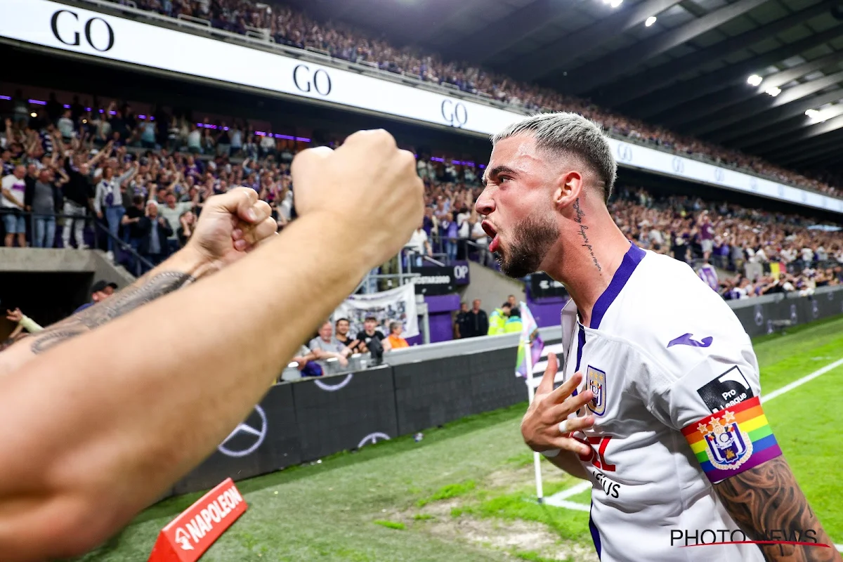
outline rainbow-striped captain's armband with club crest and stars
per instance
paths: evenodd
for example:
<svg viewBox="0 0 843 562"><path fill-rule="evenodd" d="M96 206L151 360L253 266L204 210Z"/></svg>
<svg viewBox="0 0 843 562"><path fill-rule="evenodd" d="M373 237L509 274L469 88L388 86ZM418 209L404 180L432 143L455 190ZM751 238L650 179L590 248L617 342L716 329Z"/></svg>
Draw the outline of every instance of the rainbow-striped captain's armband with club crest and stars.
<svg viewBox="0 0 843 562"><path fill-rule="evenodd" d="M714 484L781 455L757 396L685 427L682 435Z"/></svg>

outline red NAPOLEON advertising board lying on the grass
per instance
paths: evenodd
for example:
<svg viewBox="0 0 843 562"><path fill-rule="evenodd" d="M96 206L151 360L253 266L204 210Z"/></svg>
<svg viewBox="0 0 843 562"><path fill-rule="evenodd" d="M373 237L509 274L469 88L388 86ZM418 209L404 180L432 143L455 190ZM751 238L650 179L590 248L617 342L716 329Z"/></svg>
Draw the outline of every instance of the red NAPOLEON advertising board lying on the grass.
<svg viewBox="0 0 843 562"><path fill-rule="evenodd" d="M196 562L245 511L234 481L225 479L161 529L148 562Z"/></svg>

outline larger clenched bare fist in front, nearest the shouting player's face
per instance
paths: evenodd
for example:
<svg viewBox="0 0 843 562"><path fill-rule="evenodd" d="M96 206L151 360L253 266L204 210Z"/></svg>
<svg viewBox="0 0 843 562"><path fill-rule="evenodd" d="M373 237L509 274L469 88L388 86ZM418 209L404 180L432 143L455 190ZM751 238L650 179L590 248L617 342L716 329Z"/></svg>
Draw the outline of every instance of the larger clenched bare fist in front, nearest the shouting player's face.
<svg viewBox="0 0 843 562"><path fill-rule="evenodd" d="M424 185L416 158L386 131L358 131L334 151L305 150L292 173L299 216L322 212L330 222L365 225L366 243L356 249L369 267L398 254L421 223Z"/></svg>

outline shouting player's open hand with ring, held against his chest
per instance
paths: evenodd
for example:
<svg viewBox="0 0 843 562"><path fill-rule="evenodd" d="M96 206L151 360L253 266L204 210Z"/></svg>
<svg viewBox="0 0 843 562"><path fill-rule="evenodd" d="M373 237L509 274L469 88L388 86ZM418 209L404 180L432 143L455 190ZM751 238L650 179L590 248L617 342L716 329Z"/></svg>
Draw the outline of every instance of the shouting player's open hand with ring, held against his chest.
<svg viewBox="0 0 843 562"><path fill-rule="evenodd" d="M533 402L521 420L521 435L524 436L527 446L535 452L561 449L587 455L590 447L572 438L571 434L573 431L582 431L593 426L594 416L589 414L571 419L568 416L588 404L593 399L593 393L585 390L576 396L571 395L583 380L583 374L580 372L554 390L553 381L556 378L557 365L556 354L548 354L545 375L535 389ZM564 432L560 427L562 421L565 421Z"/></svg>

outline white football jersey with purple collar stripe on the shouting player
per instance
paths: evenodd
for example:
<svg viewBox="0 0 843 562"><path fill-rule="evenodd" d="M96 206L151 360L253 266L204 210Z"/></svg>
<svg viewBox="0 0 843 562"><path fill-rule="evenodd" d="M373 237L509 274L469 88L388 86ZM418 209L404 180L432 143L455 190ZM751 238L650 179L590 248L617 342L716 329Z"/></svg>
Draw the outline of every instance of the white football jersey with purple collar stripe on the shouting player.
<svg viewBox="0 0 843 562"><path fill-rule="evenodd" d="M749 336L688 265L631 245L589 327L562 310L564 377L591 388L589 527L602 562L754 562L711 482L781 455ZM585 408L583 408L585 410ZM581 410L578 414L584 415Z"/></svg>

